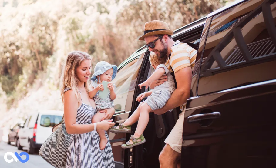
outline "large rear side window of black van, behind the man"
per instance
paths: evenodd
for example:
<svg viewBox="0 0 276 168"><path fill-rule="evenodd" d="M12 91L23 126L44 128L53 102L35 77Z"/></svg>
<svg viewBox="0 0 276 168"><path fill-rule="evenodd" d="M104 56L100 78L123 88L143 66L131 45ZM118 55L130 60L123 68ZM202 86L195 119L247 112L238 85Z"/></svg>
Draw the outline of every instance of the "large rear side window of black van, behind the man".
<svg viewBox="0 0 276 168"><path fill-rule="evenodd" d="M276 3L263 2L247 1L212 18L198 95L276 78Z"/></svg>

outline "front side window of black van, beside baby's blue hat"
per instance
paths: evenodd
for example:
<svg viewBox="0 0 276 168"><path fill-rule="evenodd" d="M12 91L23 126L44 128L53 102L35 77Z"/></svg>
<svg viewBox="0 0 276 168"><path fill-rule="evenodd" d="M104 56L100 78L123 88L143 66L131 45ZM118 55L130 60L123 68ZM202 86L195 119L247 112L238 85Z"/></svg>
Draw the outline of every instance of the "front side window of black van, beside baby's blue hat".
<svg viewBox="0 0 276 168"><path fill-rule="evenodd" d="M117 72L116 78L112 81L116 85L116 99L114 100L115 111L125 110L127 93L130 89L130 83L136 62L137 59L134 59L123 66L123 68Z"/></svg>

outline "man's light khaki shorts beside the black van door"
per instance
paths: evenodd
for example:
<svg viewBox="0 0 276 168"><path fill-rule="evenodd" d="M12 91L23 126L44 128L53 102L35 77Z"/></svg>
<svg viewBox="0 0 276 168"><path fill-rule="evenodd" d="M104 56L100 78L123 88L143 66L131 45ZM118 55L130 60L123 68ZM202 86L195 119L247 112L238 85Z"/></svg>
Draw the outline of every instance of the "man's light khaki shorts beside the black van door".
<svg viewBox="0 0 276 168"><path fill-rule="evenodd" d="M179 119L175 123L172 131L165 140L165 143L170 145L170 147L178 153L181 153L182 147L182 132L184 123L184 112L185 109L179 114Z"/></svg>

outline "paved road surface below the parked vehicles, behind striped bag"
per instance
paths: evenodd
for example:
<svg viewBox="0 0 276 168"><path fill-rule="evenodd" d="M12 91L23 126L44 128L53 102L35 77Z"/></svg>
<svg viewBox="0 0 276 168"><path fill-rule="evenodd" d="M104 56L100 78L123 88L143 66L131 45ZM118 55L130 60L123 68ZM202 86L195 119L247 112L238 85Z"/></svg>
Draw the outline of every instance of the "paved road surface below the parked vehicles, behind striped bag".
<svg viewBox="0 0 276 168"><path fill-rule="evenodd" d="M34 155L29 155L29 160L26 163L21 163L20 161L13 161L12 163L7 163L4 160L4 155L7 152L18 154L21 152L27 152L25 148L23 150L18 150L16 146L14 145L8 145L6 142L2 141L0 142L0 167L1 168L53 168L49 163L47 163L45 160L42 159L38 155L38 153L35 153ZM8 159L11 159L12 156L8 156ZM22 159L26 159L26 157L23 155Z"/></svg>

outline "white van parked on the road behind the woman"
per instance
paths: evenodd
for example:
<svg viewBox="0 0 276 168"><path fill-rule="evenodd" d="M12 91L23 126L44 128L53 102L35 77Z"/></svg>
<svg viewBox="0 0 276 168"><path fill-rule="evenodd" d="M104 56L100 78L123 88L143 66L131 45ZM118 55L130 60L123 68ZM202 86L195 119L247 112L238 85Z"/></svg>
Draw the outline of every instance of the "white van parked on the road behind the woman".
<svg viewBox="0 0 276 168"><path fill-rule="evenodd" d="M52 127L61 123L63 111L45 110L34 113L25 120L19 129L17 148L28 147L27 152L38 151L44 141L52 134Z"/></svg>

